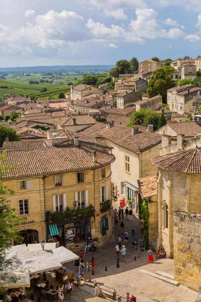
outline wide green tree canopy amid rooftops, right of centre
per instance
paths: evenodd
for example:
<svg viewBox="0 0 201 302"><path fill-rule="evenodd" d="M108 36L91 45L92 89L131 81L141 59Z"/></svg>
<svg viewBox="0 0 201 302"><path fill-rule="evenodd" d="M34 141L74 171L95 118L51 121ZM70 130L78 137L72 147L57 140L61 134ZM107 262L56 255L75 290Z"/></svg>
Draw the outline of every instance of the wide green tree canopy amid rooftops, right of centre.
<svg viewBox="0 0 201 302"><path fill-rule="evenodd" d="M147 127L148 125L153 125L155 131L165 124L166 120L163 114L158 114L156 111L150 109L140 109L140 111L133 112L127 126L142 125Z"/></svg>

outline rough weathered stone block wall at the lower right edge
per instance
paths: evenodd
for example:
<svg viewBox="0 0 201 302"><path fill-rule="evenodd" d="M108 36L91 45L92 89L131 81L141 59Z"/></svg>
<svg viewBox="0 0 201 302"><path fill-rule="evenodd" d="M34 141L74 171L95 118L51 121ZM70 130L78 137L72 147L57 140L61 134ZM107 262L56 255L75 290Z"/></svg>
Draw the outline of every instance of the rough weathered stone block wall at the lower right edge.
<svg viewBox="0 0 201 302"><path fill-rule="evenodd" d="M174 213L174 278L198 290L201 284L201 215Z"/></svg>

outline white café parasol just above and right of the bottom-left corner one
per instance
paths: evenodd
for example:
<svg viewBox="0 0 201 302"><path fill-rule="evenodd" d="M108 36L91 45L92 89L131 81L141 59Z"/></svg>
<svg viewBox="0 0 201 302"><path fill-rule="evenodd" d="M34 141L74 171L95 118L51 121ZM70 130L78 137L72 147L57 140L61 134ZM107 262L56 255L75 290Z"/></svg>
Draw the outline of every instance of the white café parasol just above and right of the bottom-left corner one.
<svg viewBox="0 0 201 302"><path fill-rule="evenodd" d="M31 274L48 272L50 270L58 269L60 266L61 263L52 254L32 257L23 261L23 267L29 268Z"/></svg>

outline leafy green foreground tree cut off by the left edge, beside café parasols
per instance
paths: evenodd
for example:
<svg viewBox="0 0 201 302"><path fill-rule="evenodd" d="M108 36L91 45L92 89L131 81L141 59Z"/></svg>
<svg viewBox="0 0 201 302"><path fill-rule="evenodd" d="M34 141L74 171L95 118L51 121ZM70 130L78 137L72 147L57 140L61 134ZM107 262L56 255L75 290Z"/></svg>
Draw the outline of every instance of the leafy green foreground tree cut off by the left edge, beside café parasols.
<svg viewBox="0 0 201 302"><path fill-rule="evenodd" d="M16 209L11 207L11 202L5 195L14 195L14 191L7 188L3 181L5 175L12 169L16 169L18 165L10 166L6 157L6 151L0 155L0 287L4 288L4 281L16 282L16 278L7 273L9 267L14 267L15 257L7 257L7 249L10 247L10 240L16 243L22 243L19 231L15 226L19 225L24 219L17 216Z"/></svg>

